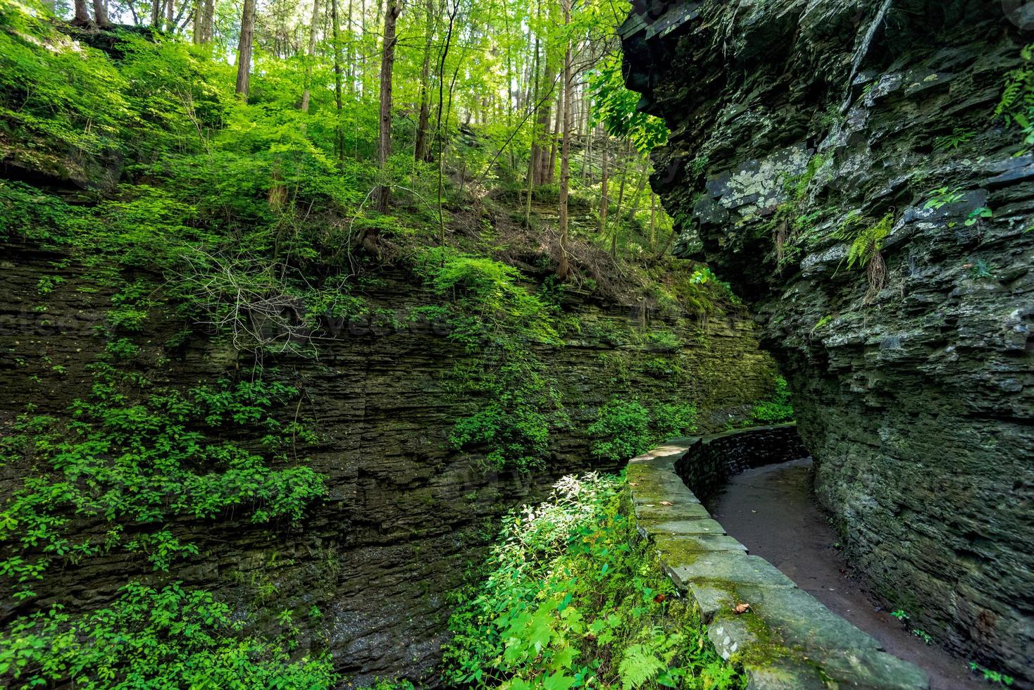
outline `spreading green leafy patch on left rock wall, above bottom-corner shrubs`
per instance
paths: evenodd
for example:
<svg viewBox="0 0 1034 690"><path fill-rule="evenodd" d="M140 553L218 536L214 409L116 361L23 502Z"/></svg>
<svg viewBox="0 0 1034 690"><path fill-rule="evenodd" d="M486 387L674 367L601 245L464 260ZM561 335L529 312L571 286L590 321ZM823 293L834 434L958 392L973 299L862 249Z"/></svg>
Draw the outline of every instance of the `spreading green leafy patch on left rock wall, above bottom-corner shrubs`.
<svg viewBox="0 0 1034 690"><path fill-rule="evenodd" d="M324 495L323 476L311 469L273 469L262 456L214 438L225 425L256 427L286 465L285 441L277 435L297 430L285 429L270 408L297 395L291 386L224 380L186 395L155 389L132 400L123 388L133 380L98 363L92 395L72 404L67 425L23 415L3 440L4 454L20 451L43 470L27 476L0 512L0 542L34 555L0 561L17 597L34 596L32 584L55 562L75 563L120 543L169 570L172 560L196 554L161 528L174 518L212 520L240 510L253 523L294 521ZM74 541L66 533L69 514L101 521L108 536ZM136 536L123 541L129 526ZM143 526L153 531L141 532Z"/></svg>

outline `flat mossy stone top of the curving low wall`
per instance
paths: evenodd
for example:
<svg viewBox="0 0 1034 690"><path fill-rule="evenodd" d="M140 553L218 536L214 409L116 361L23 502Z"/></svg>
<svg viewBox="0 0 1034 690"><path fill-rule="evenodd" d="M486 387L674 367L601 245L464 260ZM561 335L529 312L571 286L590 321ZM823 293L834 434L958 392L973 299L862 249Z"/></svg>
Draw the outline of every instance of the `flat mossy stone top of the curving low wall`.
<svg viewBox="0 0 1034 690"><path fill-rule="evenodd" d="M740 432L742 440L756 442L758 431ZM735 443L735 434L722 434L714 447ZM675 465L685 473L695 457L690 449L708 447L714 438L658 446L629 462L628 478L640 535L653 542L668 575L700 608L719 654L742 664L752 690L929 688L922 669L883 652L876 638L748 555L711 519Z"/></svg>

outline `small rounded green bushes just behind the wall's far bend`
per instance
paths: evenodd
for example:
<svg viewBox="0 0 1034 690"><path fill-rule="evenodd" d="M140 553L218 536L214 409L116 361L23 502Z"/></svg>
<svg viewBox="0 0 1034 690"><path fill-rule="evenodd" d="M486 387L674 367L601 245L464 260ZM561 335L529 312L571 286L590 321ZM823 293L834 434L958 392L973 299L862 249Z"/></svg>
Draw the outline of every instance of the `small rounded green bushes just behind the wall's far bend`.
<svg viewBox="0 0 1034 690"><path fill-rule="evenodd" d="M652 412L638 401L619 398L602 406L586 430L597 457L617 462L649 450L658 442L696 430L697 410L691 404L668 403Z"/></svg>

